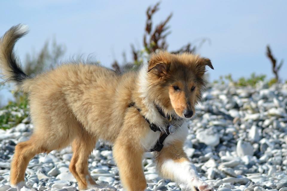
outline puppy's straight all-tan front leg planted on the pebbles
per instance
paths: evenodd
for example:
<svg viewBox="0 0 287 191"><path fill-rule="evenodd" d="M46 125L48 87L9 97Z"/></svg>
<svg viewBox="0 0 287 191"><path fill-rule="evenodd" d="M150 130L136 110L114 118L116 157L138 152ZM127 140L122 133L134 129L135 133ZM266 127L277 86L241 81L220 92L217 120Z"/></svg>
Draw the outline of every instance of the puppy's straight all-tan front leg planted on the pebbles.
<svg viewBox="0 0 287 191"><path fill-rule="evenodd" d="M134 144L118 141L113 147L113 156L119 168L120 180L127 191L144 191L146 179L142 167L143 151Z"/></svg>

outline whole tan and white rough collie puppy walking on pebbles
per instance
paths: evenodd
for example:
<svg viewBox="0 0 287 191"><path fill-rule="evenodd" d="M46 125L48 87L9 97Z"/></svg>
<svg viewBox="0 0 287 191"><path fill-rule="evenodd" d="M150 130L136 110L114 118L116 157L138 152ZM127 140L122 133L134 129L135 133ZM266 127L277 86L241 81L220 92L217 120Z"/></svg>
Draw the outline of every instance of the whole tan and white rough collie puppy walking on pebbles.
<svg viewBox="0 0 287 191"><path fill-rule="evenodd" d="M209 59L158 52L137 72L122 75L78 63L30 77L13 52L15 42L26 33L24 25L17 25L0 40L3 77L28 94L34 125L30 140L15 147L11 185L17 190L25 186L25 170L36 154L71 144L69 169L79 190L101 190L88 172L88 157L102 139L113 144L120 179L128 191L146 190L142 158L149 151L156 155L162 177L187 184L190 190L213 190L183 150L185 120L195 113L201 98L206 66L213 69Z"/></svg>

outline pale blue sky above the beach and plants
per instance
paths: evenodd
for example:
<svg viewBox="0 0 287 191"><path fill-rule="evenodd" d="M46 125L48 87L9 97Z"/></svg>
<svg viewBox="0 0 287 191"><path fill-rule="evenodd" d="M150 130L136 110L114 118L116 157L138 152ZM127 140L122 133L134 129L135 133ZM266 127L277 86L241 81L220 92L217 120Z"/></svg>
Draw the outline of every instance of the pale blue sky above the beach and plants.
<svg viewBox="0 0 287 191"><path fill-rule="evenodd" d="M122 61L122 52L130 58L130 44L142 47L145 11L157 1L1 1L0 35L18 23L28 24L30 33L16 45L24 61L28 52L39 51L47 39L56 37L65 44L63 60L73 55L88 56L110 67ZM164 20L171 12L172 33L168 50L177 50L188 42L209 38L198 51L213 62L211 80L220 75L234 78L251 73L272 77L266 45L278 60L287 60L287 1L171 1L161 2L154 21ZM131 59L128 59L131 60ZM280 76L286 79L287 62Z"/></svg>

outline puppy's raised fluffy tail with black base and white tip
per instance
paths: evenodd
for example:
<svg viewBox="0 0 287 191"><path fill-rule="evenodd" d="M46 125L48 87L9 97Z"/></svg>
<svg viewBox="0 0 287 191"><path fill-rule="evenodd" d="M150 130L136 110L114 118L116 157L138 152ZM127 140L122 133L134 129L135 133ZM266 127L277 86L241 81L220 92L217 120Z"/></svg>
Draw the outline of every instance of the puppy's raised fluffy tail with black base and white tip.
<svg viewBox="0 0 287 191"><path fill-rule="evenodd" d="M17 85L29 78L19 65L19 59L15 56L14 45L16 41L28 33L28 26L18 24L11 27L0 38L0 69L5 81L16 82Z"/></svg>

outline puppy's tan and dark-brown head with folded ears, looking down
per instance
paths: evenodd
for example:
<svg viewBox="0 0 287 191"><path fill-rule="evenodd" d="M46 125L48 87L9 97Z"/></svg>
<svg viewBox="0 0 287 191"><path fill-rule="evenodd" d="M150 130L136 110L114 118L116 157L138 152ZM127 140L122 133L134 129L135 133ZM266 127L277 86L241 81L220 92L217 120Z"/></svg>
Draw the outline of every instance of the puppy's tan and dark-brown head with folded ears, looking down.
<svg viewBox="0 0 287 191"><path fill-rule="evenodd" d="M205 67L213 69L210 59L190 53L155 53L148 62L150 91L165 113L190 118L201 99L206 81Z"/></svg>

